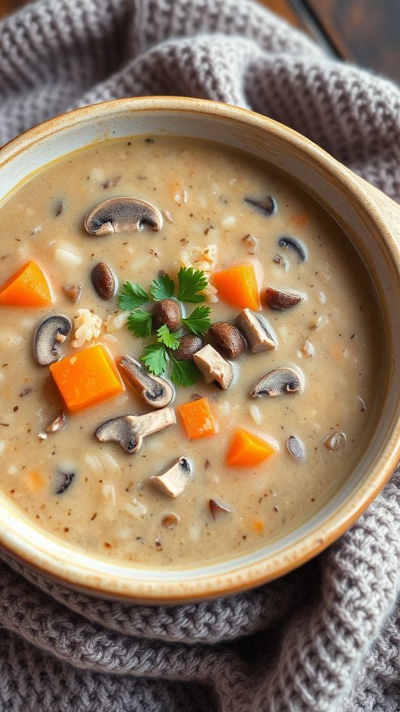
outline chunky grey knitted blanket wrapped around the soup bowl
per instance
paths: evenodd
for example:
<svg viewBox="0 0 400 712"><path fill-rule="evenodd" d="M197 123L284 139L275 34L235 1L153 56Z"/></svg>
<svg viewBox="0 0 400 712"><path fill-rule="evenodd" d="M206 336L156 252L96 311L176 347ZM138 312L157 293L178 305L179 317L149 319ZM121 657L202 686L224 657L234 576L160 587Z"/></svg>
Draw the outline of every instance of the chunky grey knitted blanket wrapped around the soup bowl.
<svg viewBox="0 0 400 712"><path fill-rule="evenodd" d="M41 0L0 23L0 142L128 95L218 99L400 199L400 92L247 0ZM172 609L0 560L1 712L399 712L400 476L319 560Z"/></svg>

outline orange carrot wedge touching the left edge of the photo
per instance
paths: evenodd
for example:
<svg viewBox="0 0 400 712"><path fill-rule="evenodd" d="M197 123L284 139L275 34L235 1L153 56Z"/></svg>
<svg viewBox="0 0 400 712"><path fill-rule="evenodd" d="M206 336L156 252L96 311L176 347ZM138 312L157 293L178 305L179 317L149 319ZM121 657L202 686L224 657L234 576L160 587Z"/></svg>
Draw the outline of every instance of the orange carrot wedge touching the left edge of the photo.
<svg viewBox="0 0 400 712"><path fill-rule="evenodd" d="M53 298L50 285L41 268L27 262L0 286L0 304L14 307L43 307Z"/></svg>

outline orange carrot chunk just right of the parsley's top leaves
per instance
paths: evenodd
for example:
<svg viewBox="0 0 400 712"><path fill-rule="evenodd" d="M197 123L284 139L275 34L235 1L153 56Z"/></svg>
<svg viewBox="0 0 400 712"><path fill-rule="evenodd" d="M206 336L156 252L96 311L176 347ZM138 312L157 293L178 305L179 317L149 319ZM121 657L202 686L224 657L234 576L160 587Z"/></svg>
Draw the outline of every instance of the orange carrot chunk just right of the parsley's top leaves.
<svg viewBox="0 0 400 712"><path fill-rule="evenodd" d="M215 272L211 278L224 302L239 309L259 309L260 295L256 271L252 264L229 267Z"/></svg>

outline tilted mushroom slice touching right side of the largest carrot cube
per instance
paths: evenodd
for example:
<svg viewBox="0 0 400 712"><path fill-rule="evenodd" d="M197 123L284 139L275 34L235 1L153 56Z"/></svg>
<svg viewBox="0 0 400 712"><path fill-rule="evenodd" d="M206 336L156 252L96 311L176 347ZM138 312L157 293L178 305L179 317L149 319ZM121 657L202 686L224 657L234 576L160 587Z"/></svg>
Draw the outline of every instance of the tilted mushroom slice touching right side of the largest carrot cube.
<svg viewBox="0 0 400 712"><path fill-rule="evenodd" d="M174 397L172 385L159 376L150 375L147 369L132 356L122 356L120 368L127 375L132 386L140 391L140 395L147 405L153 408L164 408L169 405Z"/></svg>

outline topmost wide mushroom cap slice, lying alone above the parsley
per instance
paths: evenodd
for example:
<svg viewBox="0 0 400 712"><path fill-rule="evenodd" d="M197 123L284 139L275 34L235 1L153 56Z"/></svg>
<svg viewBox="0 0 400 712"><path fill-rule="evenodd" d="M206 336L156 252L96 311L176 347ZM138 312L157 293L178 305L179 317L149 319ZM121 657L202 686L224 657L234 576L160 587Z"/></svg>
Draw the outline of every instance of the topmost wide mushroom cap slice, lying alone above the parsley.
<svg viewBox="0 0 400 712"><path fill-rule="evenodd" d="M161 230L162 214L154 205L137 198L110 198L95 205L85 217L85 230L90 235L137 232L145 225Z"/></svg>

